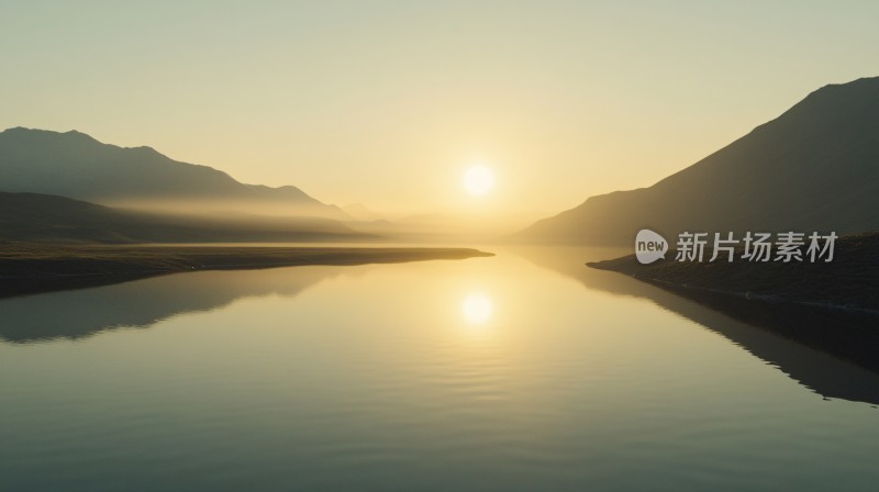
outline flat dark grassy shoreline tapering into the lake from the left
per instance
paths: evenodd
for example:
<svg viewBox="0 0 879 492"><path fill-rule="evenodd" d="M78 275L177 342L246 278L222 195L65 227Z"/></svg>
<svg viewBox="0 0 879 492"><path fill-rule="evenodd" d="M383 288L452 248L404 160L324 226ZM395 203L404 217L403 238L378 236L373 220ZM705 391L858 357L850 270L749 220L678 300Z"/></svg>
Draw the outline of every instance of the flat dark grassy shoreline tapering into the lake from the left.
<svg viewBox="0 0 879 492"><path fill-rule="evenodd" d="M493 256L470 248L0 245L0 298L159 275L305 265L365 265Z"/></svg>

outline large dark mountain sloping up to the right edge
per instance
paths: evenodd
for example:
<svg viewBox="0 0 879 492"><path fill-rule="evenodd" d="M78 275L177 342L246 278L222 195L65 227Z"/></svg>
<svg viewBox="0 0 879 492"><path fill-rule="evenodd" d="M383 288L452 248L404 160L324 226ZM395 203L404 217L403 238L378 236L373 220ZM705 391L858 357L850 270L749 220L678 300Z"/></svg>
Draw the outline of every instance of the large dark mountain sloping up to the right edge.
<svg viewBox="0 0 879 492"><path fill-rule="evenodd" d="M623 245L645 227L666 237L879 230L879 77L821 88L649 188L592 197L515 238Z"/></svg>

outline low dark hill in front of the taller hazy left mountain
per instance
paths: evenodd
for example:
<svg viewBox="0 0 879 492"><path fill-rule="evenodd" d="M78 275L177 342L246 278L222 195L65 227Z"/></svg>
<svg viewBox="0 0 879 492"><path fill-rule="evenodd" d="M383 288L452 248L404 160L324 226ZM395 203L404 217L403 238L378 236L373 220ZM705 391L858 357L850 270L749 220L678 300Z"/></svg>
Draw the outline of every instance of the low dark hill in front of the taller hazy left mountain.
<svg viewBox="0 0 879 492"><path fill-rule="evenodd" d="M372 238L329 219L153 214L65 197L0 192L0 242L287 243Z"/></svg>

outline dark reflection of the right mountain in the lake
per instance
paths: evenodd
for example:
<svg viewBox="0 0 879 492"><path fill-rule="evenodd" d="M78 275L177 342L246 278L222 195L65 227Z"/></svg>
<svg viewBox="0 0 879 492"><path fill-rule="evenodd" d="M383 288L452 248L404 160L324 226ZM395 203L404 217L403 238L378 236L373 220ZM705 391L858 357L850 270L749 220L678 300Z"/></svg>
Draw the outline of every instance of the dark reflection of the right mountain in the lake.
<svg viewBox="0 0 879 492"><path fill-rule="evenodd" d="M588 268L620 251L586 248L520 249L535 265L590 289L646 298L728 338L825 398L879 404L877 317L808 310L703 294L687 297L631 277Z"/></svg>

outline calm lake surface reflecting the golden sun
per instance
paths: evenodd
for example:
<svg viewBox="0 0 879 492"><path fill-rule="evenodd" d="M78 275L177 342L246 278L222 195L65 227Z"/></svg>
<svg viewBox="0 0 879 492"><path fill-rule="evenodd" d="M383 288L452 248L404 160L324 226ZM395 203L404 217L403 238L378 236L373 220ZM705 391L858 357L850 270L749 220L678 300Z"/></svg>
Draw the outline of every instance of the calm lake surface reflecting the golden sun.
<svg viewBox="0 0 879 492"><path fill-rule="evenodd" d="M876 373L483 249L2 300L0 490L876 490Z"/></svg>

